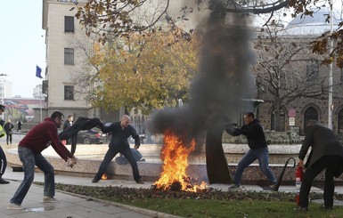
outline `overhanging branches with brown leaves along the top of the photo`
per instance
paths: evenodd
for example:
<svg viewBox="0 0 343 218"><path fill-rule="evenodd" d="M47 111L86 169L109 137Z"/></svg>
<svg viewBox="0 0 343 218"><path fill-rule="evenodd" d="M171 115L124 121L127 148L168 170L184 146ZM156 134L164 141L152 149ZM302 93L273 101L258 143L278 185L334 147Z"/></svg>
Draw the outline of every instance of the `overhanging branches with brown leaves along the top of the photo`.
<svg viewBox="0 0 343 218"><path fill-rule="evenodd" d="M341 0L337 0L341 1ZM169 31L178 28L178 22L189 20L189 14L195 11L206 12L207 10L216 11L217 13L240 12L246 14L269 14L270 19L265 24L272 20L275 12L282 8L290 8L292 17L298 14L301 16L312 16L316 11L315 8L331 7L332 0L323 0L321 2L296 1L296 0L275 0L275 1L252 1L252 0L184 0L184 3L191 6L181 6L179 15L170 15L170 5L175 4L173 1L165 0L90 0L85 7L78 7L76 17L86 27L86 34L90 36L92 33L97 34L98 40L102 44L109 40L112 36L129 37L131 33L154 31ZM192 4L191 4L192 3ZM148 22L137 22L135 12L143 8L153 8L152 6L159 5L159 10L155 16L151 17ZM186 4L184 4L186 5ZM330 14L327 15L328 22ZM142 21L142 20L140 20ZM161 21L164 23L161 24ZM323 59L323 64L330 64L335 61L339 68L343 68L343 21L339 23L339 28L334 29L332 34L323 35L320 38L313 40L312 51L318 54L327 53ZM177 32L177 31L176 31ZM176 36L188 37L192 36L192 29L181 31ZM331 53L328 52L328 42L334 39L337 41L335 48Z"/></svg>

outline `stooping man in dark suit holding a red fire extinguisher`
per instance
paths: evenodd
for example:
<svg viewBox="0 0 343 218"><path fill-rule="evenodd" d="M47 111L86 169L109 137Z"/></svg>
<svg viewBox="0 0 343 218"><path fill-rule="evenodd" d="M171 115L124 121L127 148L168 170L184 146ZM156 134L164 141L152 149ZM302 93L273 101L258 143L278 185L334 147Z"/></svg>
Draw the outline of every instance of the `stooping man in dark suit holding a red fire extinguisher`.
<svg viewBox="0 0 343 218"><path fill-rule="evenodd" d="M304 165L309 148L311 152ZM325 169L324 205L323 209L331 210L335 184L333 177L339 177L343 171L343 146L337 140L330 128L318 125L315 120L309 120L305 128L305 140L301 146L298 166L306 168L301 182L298 210L307 211L308 195L315 176Z"/></svg>

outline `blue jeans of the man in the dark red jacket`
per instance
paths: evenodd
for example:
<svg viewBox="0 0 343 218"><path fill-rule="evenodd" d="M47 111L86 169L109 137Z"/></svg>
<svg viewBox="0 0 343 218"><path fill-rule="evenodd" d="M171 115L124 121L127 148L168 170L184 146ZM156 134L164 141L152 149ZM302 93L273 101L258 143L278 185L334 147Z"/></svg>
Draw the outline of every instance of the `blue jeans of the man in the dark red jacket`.
<svg viewBox="0 0 343 218"><path fill-rule="evenodd" d="M32 150L27 148L18 147L18 155L24 169L24 180L20 183L18 190L14 193L10 202L21 205L35 178L35 165L43 171L45 175L44 196L54 197L53 166L47 162L41 153L34 154Z"/></svg>

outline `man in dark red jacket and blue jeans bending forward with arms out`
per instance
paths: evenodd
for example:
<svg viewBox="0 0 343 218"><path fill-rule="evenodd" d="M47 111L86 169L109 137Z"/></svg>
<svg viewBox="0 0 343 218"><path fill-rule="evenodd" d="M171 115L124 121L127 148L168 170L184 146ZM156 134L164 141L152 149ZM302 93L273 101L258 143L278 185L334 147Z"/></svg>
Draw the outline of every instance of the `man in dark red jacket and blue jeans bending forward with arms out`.
<svg viewBox="0 0 343 218"><path fill-rule="evenodd" d="M18 155L24 169L24 180L8 203L7 209L25 209L25 207L21 206L21 203L33 182L35 166L45 174L43 202L58 202L53 198L55 191L53 166L43 157L41 152L51 145L57 154L67 162L67 166L71 167L77 164L78 159L66 149L57 134L57 128L60 128L63 123L63 117L61 112L53 112L51 117L45 118L43 123L33 127L19 142Z"/></svg>

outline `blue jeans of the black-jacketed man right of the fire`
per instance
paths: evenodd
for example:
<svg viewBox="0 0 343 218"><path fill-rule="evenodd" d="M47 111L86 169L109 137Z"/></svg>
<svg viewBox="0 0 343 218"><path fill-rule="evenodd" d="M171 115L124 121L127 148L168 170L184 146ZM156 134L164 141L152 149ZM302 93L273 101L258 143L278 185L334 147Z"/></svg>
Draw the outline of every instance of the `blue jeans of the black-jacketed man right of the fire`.
<svg viewBox="0 0 343 218"><path fill-rule="evenodd" d="M249 149L249 151L241 158L240 163L238 163L236 173L234 174L233 181L235 185L241 184L241 176L245 168L247 168L257 159L259 168L261 169L262 173L265 174L265 176L270 182L272 182L272 184L276 183L275 176L268 166L269 153L268 148L265 147L262 149Z"/></svg>

